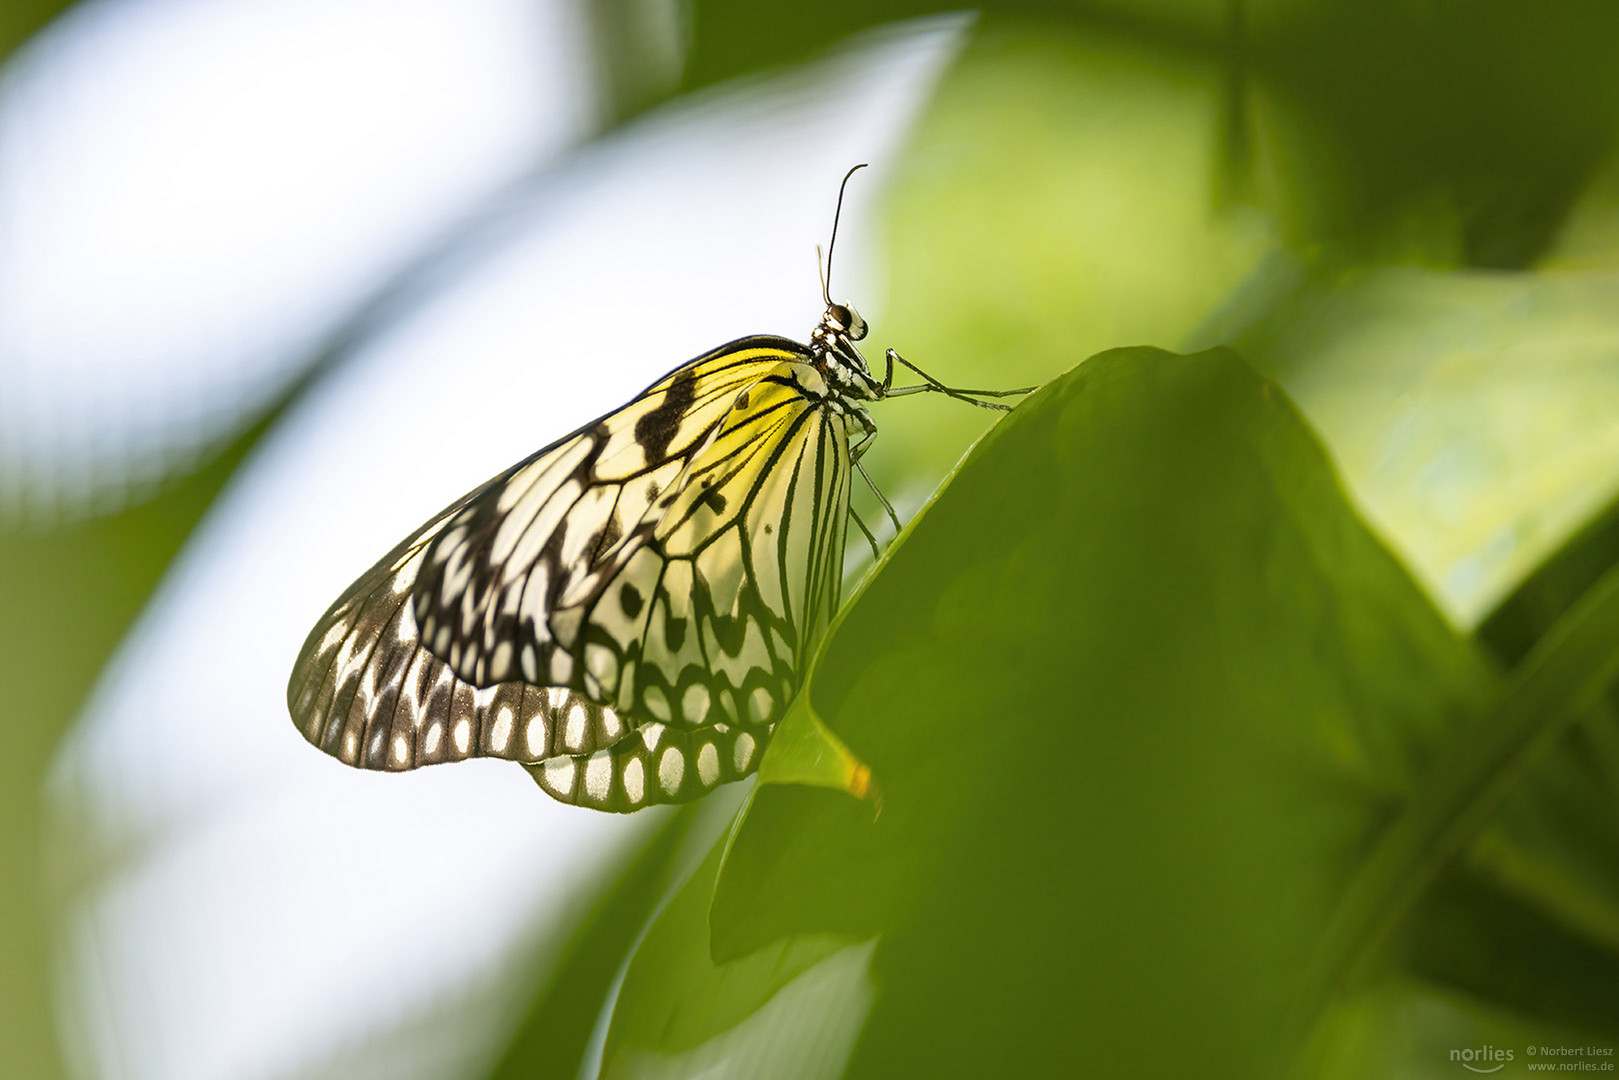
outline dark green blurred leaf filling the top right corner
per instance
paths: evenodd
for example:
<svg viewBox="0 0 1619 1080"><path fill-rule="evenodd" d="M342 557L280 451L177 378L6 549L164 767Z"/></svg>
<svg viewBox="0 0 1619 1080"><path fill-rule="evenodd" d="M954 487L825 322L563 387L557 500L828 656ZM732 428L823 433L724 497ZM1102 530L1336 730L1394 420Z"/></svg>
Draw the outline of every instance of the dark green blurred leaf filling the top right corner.
<svg viewBox="0 0 1619 1080"><path fill-rule="evenodd" d="M1256 185L1298 251L1530 266L1613 146L1604 0L1248 6Z"/></svg>

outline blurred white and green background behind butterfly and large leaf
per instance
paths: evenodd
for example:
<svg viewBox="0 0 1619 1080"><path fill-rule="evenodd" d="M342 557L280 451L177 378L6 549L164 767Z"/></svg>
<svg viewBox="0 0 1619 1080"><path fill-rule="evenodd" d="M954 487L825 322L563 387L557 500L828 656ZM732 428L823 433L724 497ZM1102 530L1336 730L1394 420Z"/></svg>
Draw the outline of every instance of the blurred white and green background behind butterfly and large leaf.
<svg viewBox="0 0 1619 1080"><path fill-rule="evenodd" d="M285 678L450 499L720 342L803 338L855 162L832 291L871 355L1023 385L1234 345L1509 667L1619 528L1616 40L1601 0L11 0L0 1075L599 1051L742 795L597 819L500 763L351 772ZM902 517L986 418L877 418ZM1523 884L1609 947L1611 793ZM1475 975L1341 1027L1452 1075L1428 1048L1522 1023Z"/></svg>

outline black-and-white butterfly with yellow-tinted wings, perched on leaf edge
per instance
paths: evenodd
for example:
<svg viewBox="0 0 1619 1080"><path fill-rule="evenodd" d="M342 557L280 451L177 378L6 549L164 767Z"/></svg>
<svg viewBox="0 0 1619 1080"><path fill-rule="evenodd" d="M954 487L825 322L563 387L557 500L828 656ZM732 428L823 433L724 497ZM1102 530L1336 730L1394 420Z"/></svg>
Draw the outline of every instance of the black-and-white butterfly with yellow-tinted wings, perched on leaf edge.
<svg viewBox="0 0 1619 1080"><path fill-rule="evenodd" d="M549 795L633 811L758 767L839 604L868 405L945 387L831 296L808 343L745 337L457 499L309 631L304 738L363 769L521 763ZM894 385L895 363L923 382ZM876 486L873 486L876 492ZM877 492L886 513L899 518Z"/></svg>

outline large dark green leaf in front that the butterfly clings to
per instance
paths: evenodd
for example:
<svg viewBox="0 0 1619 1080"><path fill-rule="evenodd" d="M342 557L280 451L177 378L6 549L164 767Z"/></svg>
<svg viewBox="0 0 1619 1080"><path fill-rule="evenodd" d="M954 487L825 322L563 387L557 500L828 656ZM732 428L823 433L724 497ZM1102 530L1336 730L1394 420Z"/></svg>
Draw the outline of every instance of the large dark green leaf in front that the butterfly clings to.
<svg viewBox="0 0 1619 1080"><path fill-rule="evenodd" d="M712 954L879 936L848 1075L1274 1074L1337 891L1489 682L1274 385L1104 353L845 610L808 704L882 814L761 784Z"/></svg>

